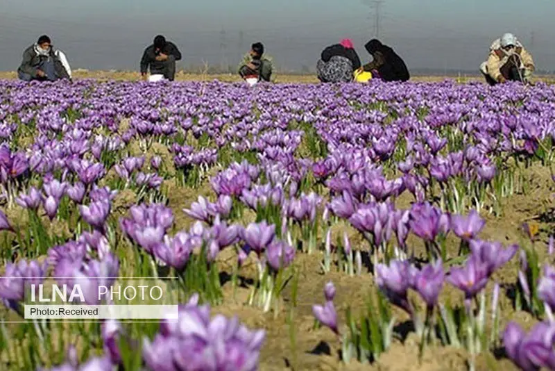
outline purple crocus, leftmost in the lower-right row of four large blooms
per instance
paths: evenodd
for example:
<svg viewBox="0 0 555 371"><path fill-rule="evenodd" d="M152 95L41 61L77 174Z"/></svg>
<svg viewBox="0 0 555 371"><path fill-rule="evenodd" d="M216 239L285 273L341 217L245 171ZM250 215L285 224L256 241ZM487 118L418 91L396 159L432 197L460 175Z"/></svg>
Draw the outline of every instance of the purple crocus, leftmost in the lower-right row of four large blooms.
<svg viewBox="0 0 555 371"><path fill-rule="evenodd" d="M396 306L411 314L412 309L407 298L411 285L410 265L407 261L391 261L389 266L376 266L376 283L382 292Z"/></svg>

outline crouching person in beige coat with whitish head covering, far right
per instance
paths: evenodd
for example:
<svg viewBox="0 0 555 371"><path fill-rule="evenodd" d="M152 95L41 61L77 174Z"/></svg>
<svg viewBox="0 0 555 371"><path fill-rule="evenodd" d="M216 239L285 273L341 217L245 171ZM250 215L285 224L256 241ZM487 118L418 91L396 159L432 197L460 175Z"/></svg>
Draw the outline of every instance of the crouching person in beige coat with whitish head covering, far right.
<svg viewBox="0 0 555 371"><path fill-rule="evenodd" d="M532 56L512 33L491 44L488 60L480 66L490 85L506 81L526 83L535 69Z"/></svg>

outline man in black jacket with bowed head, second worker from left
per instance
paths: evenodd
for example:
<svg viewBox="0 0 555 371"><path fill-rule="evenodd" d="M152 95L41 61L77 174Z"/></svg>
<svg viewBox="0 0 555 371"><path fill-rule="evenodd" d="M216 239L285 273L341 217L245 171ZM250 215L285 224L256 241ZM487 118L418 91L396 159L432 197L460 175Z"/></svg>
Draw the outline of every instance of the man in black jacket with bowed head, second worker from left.
<svg viewBox="0 0 555 371"><path fill-rule="evenodd" d="M153 76L162 75L173 81L176 78L176 60L181 60L181 52L176 44L167 41L162 35L154 38L154 43L146 48L141 59L141 75L147 79L148 69Z"/></svg>

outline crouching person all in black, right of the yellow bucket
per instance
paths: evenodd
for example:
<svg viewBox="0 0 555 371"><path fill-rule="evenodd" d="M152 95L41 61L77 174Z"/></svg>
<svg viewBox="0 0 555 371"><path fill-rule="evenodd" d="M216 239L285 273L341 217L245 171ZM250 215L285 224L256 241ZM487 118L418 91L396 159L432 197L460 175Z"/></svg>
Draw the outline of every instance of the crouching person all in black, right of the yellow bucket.
<svg viewBox="0 0 555 371"><path fill-rule="evenodd" d="M364 71L377 74L375 77L384 81L408 81L410 79L407 65L393 49L376 39L370 40L364 47L374 58L372 62L364 65Z"/></svg>

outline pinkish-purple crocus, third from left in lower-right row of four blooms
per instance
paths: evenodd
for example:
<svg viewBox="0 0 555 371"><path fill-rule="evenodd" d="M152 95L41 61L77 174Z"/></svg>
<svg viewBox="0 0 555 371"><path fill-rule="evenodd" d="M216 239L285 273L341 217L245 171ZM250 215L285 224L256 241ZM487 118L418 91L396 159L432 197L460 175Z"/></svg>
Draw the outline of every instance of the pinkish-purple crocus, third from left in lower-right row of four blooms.
<svg viewBox="0 0 555 371"><path fill-rule="evenodd" d="M451 268L447 282L463 291L467 299L472 299L486 287L489 279L488 272L488 265L472 255L463 267Z"/></svg>

